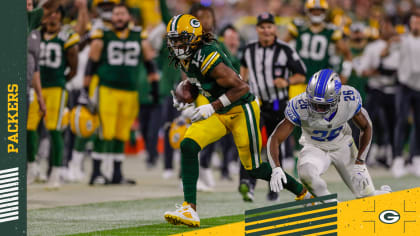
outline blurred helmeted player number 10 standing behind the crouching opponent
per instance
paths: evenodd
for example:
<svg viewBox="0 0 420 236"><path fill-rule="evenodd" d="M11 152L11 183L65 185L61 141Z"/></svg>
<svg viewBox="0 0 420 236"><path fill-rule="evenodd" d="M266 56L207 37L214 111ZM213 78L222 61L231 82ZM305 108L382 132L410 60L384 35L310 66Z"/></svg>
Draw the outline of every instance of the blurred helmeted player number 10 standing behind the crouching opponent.
<svg viewBox="0 0 420 236"><path fill-rule="evenodd" d="M341 30L325 22L327 10L326 0L307 0L305 11L310 22L296 19L288 26L289 34L285 41L293 39L296 41L296 51L308 70L306 83L317 71L331 68L330 59L334 50L344 57L342 76L340 76L342 80L346 81L351 74L350 50L346 42L342 40ZM301 92L304 91L305 86L302 87Z"/></svg>

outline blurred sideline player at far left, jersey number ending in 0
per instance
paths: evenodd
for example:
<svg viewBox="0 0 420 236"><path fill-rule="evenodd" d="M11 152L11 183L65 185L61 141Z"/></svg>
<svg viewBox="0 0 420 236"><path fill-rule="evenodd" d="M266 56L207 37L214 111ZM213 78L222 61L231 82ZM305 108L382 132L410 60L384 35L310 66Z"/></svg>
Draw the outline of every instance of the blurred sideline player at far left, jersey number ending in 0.
<svg viewBox="0 0 420 236"><path fill-rule="evenodd" d="M47 183L48 188L60 187L60 175L64 150L62 136L62 121L64 109L67 103L66 81L76 74L77 69L77 43L80 40L78 34L70 29L64 29L61 20L64 11L59 7L54 14L45 19L45 25L41 28L40 45L40 74L42 84L42 96L46 105L44 117L45 126L51 137L51 162L52 171ZM70 68L66 74L66 69ZM31 98L28 111L28 160L35 159L38 146L37 128L41 120L39 105L36 96Z"/></svg>

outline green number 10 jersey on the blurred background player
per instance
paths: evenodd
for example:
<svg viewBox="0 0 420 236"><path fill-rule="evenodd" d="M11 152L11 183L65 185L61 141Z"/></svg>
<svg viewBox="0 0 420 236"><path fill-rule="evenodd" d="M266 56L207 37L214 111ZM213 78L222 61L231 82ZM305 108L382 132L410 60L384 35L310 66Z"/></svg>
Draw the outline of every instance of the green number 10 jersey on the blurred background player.
<svg viewBox="0 0 420 236"><path fill-rule="evenodd" d="M341 39L342 32L327 24L318 33L312 32L304 21L295 20L288 26L289 34L296 39L296 51L306 65L306 82L321 69L331 68L330 48Z"/></svg>

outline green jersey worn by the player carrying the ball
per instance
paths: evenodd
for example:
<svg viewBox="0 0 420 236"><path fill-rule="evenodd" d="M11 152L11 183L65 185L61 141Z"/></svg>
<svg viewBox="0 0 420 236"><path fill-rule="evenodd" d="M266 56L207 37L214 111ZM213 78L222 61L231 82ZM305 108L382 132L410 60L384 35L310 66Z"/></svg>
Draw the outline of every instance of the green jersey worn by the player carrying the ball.
<svg viewBox="0 0 420 236"><path fill-rule="evenodd" d="M226 54L219 48L217 42L203 45L194 53L191 61L181 61L182 69L187 74L189 80L200 88L201 94L209 99L210 102L215 101L228 90L218 85L216 80L210 76L211 71L219 63L224 63L237 72ZM220 109L217 113L226 113L232 107L246 104L254 99L253 94L247 93L231 105Z"/></svg>

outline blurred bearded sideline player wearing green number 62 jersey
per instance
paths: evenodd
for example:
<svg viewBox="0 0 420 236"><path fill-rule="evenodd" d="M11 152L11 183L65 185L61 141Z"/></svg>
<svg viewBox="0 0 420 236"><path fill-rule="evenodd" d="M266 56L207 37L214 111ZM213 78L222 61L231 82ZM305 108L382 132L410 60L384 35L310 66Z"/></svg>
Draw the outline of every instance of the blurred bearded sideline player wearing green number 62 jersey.
<svg viewBox="0 0 420 236"><path fill-rule="evenodd" d="M152 59L154 52L139 27L130 27L130 14L124 4L112 10L112 29L97 29L92 33L92 43L86 66L84 95L92 75L99 77L97 110L100 119L99 138L92 153L93 173L90 184L97 178L109 181L100 171L102 160L114 159L114 172L110 183L134 184L122 176L121 164L124 159L124 142L129 139L130 127L138 114L139 63L144 62L149 81L157 81L159 76ZM89 100L86 97L86 100Z"/></svg>

